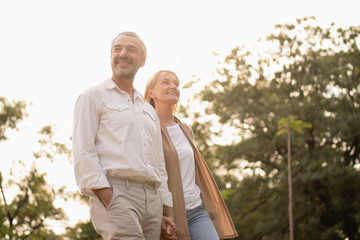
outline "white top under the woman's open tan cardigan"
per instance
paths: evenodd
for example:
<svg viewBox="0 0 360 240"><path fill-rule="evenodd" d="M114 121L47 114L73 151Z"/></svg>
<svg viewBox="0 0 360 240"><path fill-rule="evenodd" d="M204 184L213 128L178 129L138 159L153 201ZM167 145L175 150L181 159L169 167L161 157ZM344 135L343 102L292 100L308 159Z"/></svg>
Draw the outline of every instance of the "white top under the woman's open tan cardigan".
<svg viewBox="0 0 360 240"><path fill-rule="evenodd" d="M179 124L166 127L176 148L181 171L186 210L201 205L200 188L195 183L195 159L193 149Z"/></svg>

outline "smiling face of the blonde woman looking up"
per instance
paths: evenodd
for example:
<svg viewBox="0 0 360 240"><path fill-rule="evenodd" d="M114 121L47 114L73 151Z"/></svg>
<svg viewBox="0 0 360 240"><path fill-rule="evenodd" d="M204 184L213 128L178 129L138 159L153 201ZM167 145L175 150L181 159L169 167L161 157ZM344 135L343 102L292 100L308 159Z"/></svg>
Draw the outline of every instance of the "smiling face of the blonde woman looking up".
<svg viewBox="0 0 360 240"><path fill-rule="evenodd" d="M172 73L163 72L151 89L150 97L154 99L155 106L158 104L175 105L180 98L179 80Z"/></svg>

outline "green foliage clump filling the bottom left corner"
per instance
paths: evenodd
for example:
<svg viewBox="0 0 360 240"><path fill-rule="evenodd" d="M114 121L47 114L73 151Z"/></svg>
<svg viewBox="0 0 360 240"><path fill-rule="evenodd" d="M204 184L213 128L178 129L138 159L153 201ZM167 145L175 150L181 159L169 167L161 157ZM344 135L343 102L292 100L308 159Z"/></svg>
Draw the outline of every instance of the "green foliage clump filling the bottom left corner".
<svg viewBox="0 0 360 240"><path fill-rule="evenodd" d="M57 193L46 183L44 176L45 174L40 174L33 166L20 182L9 181L9 187L17 190L10 202L7 201L3 185L0 184L2 239L56 239L55 234L48 229L46 221L61 220L65 215L53 205Z"/></svg>

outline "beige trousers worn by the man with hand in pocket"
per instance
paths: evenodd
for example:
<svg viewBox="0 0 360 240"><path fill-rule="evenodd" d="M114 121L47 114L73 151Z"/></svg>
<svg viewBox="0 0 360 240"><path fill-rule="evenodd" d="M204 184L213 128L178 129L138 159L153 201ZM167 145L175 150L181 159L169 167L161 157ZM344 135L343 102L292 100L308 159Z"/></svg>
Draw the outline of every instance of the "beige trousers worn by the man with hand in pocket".
<svg viewBox="0 0 360 240"><path fill-rule="evenodd" d="M162 201L152 183L109 178L113 196L106 209L97 197L90 198L90 216L105 240L155 240L160 238Z"/></svg>

